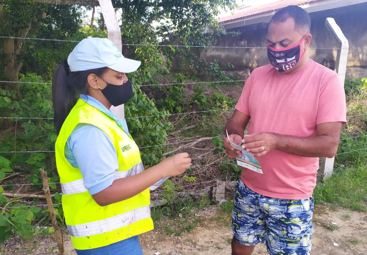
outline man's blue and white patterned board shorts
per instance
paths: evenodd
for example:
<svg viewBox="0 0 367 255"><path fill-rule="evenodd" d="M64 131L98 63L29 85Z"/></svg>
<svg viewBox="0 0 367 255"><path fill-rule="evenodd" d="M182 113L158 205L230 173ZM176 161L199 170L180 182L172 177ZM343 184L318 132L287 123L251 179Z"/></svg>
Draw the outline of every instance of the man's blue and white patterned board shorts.
<svg viewBox="0 0 367 255"><path fill-rule="evenodd" d="M235 190L232 230L243 245L266 242L271 255L309 255L313 197L277 199L260 195L240 180Z"/></svg>

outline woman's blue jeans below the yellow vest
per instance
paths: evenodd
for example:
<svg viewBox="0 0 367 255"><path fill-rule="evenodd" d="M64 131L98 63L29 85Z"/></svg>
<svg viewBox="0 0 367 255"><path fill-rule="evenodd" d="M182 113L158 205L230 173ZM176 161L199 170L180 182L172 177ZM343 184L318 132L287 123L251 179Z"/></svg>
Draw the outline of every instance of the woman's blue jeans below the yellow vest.
<svg viewBox="0 0 367 255"><path fill-rule="evenodd" d="M143 255L138 236L133 236L99 248L88 250L75 249L75 251L78 255Z"/></svg>

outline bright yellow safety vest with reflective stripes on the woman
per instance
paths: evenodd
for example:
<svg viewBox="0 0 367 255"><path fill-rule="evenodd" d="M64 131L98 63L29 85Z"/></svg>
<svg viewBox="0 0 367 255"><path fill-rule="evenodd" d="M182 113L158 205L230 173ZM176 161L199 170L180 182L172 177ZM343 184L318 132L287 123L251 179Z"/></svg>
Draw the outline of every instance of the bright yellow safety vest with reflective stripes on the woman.
<svg viewBox="0 0 367 255"><path fill-rule="evenodd" d="M63 123L55 144L62 207L74 248L103 247L152 230L149 189L121 202L99 206L85 188L80 170L71 166L64 154L66 141L78 123L98 127L113 142L119 162L115 179L144 170L139 148L131 136L127 136L112 118L79 99ZM96 153L103 151L96 148Z"/></svg>

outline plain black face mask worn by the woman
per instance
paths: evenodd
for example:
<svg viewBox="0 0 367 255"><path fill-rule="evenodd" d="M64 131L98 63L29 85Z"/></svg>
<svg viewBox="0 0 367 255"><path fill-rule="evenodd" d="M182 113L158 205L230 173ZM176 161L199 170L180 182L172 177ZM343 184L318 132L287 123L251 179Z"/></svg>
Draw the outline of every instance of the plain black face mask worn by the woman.
<svg viewBox="0 0 367 255"><path fill-rule="evenodd" d="M132 85L129 80L123 85L113 85L107 82L106 88L100 90L103 96L105 96L113 106L124 104L132 97Z"/></svg>

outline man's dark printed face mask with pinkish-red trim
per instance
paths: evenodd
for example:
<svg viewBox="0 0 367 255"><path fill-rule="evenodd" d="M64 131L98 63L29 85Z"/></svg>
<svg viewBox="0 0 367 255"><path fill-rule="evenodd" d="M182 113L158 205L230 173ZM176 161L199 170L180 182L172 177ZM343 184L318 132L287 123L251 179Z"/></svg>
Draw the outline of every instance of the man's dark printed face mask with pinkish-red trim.
<svg viewBox="0 0 367 255"><path fill-rule="evenodd" d="M301 44L305 37L306 35L297 44L284 49L274 49L268 44L268 58L275 70L284 72L293 68L299 62L306 52L304 50L301 55Z"/></svg>

